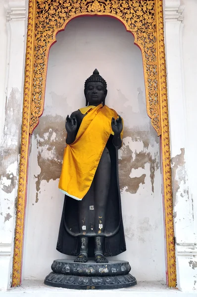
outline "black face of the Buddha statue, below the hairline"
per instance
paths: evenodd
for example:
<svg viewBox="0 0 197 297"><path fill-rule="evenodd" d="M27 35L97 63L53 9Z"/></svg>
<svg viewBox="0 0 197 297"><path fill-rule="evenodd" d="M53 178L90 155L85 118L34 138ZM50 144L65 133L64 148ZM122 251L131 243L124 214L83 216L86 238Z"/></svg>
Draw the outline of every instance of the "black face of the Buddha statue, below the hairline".
<svg viewBox="0 0 197 297"><path fill-rule="evenodd" d="M86 99L89 105L99 105L106 97L106 90L99 82L90 82L87 86Z"/></svg>

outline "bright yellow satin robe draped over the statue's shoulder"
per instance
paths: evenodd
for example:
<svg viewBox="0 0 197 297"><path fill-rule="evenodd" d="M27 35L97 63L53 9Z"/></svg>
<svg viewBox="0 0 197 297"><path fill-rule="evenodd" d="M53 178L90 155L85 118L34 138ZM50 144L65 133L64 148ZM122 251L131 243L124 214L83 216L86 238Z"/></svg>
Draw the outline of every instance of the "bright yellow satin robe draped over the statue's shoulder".
<svg viewBox="0 0 197 297"><path fill-rule="evenodd" d="M59 180L59 190L77 200L82 200L90 189L103 149L113 134L111 119L118 117L115 110L102 104L85 107L81 112L88 113L75 141L64 150Z"/></svg>

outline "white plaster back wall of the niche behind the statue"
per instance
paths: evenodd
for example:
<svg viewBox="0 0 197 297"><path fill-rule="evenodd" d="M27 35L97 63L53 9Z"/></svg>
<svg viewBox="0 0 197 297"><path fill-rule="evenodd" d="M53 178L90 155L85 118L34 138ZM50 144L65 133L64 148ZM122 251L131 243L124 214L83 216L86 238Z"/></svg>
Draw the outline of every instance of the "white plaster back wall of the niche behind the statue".
<svg viewBox="0 0 197 297"><path fill-rule="evenodd" d="M146 111L141 51L121 23L105 17L72 20L50 49L45 110L31 137L23 278L44 279L52 261L66 257L55 250L65 118L85 106L84 82L95 68L107 81L106 104L125 124L119 175L127 251L116 258L128 260L139 281L165 282L159 138Z"/></svg>

